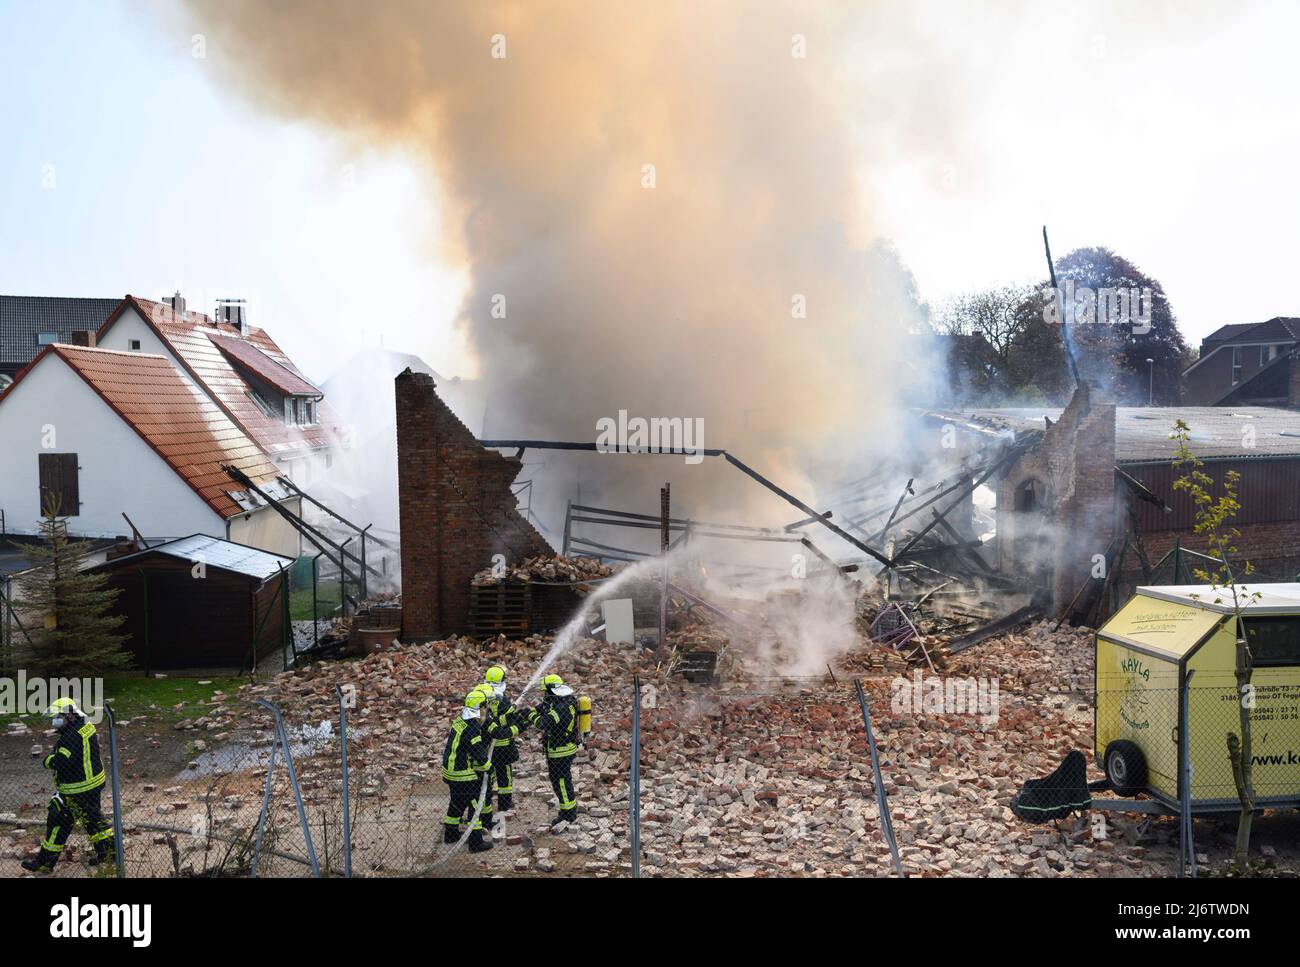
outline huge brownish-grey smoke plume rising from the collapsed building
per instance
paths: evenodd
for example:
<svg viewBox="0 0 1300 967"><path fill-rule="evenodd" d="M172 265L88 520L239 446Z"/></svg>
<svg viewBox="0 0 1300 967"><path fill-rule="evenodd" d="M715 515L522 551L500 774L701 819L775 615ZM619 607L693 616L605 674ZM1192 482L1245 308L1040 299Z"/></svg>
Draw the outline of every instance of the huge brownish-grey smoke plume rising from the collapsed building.
<svg viewBox="0 0 1300 967"><path fill-rule="evenodd" d="M928 354L906 338L923 312L897 256L872 242L859 174L894 155L937 166L946 112L919 64L889 58L879 87L849 83L848 14L188 6L213 60L234 61L225 79L254 100L426 160L447 251L471 266L459 324L486 383L488 435L590 441L620 409L702 417L706 446L810 494L814 467L888 439L900 390L930 380ZM862 43L885 42L878 26ZM729 469L628 460L568 472L586 496L642 507L642 477L677 482L699 512L751 493ZM562 508L560 468L537 496Z"/></svg>

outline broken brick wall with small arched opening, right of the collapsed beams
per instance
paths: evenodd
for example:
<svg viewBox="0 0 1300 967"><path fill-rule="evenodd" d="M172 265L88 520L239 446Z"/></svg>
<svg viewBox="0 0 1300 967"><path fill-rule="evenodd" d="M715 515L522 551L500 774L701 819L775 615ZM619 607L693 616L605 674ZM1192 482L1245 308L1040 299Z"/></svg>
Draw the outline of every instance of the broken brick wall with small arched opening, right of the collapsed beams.
<svg viewBox="0 0 1300 967"><path fill-rule="evenodd" d="M1053 613L1069 607L1115 530L1115 404L1083 383L1061 419L1006 473L997 493L997 533L1004 573L1040 574ZM1027 481L1046 491L1046 508L1017 511Z"/></svg>

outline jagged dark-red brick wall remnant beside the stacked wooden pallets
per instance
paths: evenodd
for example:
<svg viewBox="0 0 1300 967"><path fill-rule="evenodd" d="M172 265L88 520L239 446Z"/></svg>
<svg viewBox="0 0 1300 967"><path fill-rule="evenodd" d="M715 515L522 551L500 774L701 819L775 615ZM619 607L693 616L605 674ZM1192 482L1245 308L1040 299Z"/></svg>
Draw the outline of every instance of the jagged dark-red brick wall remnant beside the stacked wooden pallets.
<svg viewBox="0 0 1300 967"><path fill-rule="evenodd" d="M407 369L394 383L402 637L463 634L471 578L493 555L519 563L554 551L516 511L510 485L520 460L480 446L438 396L433 377Z"/></svg>

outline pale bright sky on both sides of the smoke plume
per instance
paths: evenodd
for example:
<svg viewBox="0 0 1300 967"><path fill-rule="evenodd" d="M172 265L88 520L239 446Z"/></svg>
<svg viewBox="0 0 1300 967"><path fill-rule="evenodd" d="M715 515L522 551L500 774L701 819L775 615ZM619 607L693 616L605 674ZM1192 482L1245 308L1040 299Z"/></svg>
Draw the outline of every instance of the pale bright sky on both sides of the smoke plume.
<svg viewBox="0 0 1300 967"><path fill-rule="evenodd" d="M1105 244L1158 278L1192 344L1300 315L1300 4L1100 26L1083 4L931 9L945 44L971 29L936 77L961 130L946 156L881 151L862 172L924 298L1040 278L1046 222L1054 253ZM217 75L143 4L0 0L0 292L244 295L317 380L381 339L462 370L463 277L438 264L413 168L260 114Z"/></svg>

